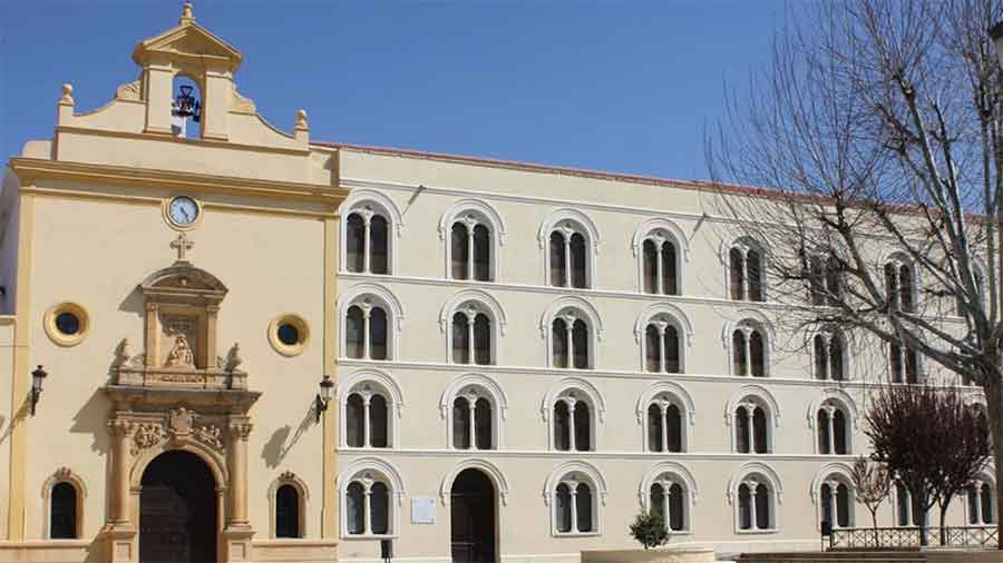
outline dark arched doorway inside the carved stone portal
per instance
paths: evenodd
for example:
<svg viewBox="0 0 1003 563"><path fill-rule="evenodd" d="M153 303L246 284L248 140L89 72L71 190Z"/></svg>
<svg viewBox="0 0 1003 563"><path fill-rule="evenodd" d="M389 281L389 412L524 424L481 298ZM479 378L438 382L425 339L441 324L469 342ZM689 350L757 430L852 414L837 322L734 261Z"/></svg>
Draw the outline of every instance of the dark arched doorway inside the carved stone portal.
<svg viewBox="0 0 1003 563"><path fill-rule="evenodd" d="M139 561L216 561L216 482L197 455L164 452L143 472Z"/></svg>

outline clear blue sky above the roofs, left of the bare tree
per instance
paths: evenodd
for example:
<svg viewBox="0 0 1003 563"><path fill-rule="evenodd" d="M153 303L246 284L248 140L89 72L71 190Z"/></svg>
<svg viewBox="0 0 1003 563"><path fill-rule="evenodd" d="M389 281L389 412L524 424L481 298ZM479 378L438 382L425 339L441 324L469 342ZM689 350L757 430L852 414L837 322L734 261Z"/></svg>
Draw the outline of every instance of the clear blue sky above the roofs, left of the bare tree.
<svg viewBox="0 0 1003 563"><path fill-rule="evenodd" d="M137 77L140 39L181 1L0 0L0 141L49 138L60 85L77 111ZM681 179L726 83L769 63L781 1L216 1L199 24L244 53L240 91L314 140Z"/></svg>

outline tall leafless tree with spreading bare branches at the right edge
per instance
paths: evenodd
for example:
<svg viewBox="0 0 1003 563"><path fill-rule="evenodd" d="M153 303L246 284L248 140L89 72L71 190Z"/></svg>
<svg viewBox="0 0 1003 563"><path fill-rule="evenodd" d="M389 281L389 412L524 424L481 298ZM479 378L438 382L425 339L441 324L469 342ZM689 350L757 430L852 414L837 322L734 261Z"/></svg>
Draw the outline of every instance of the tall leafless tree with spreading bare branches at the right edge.
<svg viewBox="0 0 1003 563"><path fill-rule="evenodd" d="M981 386L997 484L1003 76L986 31L1000 19L999 0L812 3L707 142L714 205L768 249L785 328L851 334L904 383Z"/></svg>

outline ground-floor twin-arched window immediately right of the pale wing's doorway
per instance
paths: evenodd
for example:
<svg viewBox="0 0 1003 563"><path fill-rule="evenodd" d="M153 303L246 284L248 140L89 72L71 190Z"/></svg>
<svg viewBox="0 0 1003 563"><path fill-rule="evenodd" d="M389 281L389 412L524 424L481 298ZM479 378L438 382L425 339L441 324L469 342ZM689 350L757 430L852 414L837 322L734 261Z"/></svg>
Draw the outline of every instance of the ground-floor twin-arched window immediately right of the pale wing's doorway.
<svg viewBox="0 0 1003 563"><path fill-rule="evenodd" d="M594 477L582 471L565 473L548 480L547 502L553 513L555 535L597 534L600 532L600 498L605 491L598 488Z"/></svg>

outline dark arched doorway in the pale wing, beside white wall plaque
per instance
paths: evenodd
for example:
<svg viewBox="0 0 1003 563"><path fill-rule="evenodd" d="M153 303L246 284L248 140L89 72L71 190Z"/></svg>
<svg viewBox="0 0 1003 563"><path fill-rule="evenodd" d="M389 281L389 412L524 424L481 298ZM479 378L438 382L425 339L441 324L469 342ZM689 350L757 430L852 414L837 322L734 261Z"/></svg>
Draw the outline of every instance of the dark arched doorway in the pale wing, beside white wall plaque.
<svg viewBox="0 0 1003 563"><path fill-rule="evenodd" d="M494 563L496 513L495 485L479 470L464 470L450 492L452 561Z"/></svg>

